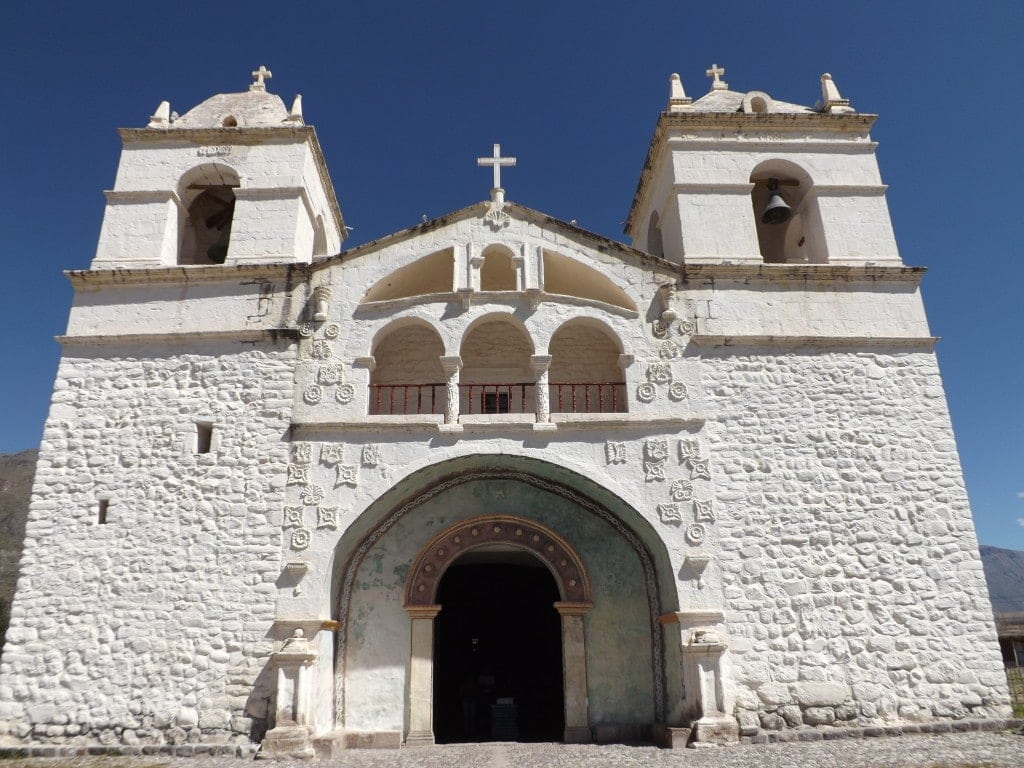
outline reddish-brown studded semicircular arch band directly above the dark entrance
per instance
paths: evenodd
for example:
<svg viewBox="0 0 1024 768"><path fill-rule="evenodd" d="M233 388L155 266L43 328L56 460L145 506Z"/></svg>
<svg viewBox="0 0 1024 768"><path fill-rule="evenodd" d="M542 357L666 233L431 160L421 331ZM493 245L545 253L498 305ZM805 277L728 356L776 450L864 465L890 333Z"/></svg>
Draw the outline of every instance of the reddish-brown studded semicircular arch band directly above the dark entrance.
<svg viewBox="0 0 1024 768"><path fill-rule="evenodd" d="M406 606L433 605L444 571L481 547L510 545L540 558L558 583L564 602L593 603L580 555L551 528L513 515L480 515L449 526L420 551L406 583Z"/></svg>

